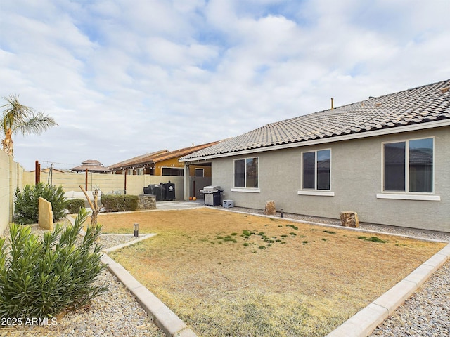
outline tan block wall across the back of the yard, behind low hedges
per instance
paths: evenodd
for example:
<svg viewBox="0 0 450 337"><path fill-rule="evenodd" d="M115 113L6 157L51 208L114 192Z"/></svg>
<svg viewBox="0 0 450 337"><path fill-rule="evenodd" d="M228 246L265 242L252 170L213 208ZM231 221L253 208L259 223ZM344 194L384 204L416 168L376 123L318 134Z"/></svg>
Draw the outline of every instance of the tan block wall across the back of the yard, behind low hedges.
<svg viewBox="0 0 450 337"><path fill-rule="evenodd" d="M24 173L24 185L34 185L34 172ZM127 175L127 194L139 195L143 194L143 187L150 184L167 183L170 180L175 184L175 197L176 199L183 199L184 187L183 177L179 176L150 176L144 174L141 176ZM49 180L49 173L41 172L41 182L51 182L55 186L63 186L65 192L77 191L80 192L79 185L83 188L86 186L86 174L85 173L60 173L53 172L53 177ZM96 186L100 187L103 193L113 191L124 191L125 175L122 174L101 174L101 173L88 173L87 177L87 189L93 190Z"/></svg>

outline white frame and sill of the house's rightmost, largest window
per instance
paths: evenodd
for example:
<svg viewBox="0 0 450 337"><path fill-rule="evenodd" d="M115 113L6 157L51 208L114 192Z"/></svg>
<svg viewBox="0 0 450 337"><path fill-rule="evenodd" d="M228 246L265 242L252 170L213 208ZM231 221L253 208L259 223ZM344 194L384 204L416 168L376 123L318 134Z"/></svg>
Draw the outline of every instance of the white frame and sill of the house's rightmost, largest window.
<svg viewBox="0 0 450 337"><path fill-rule="evenodd" d="M433 169L432 169L432 192L409 192L409 142L411 140L432 139L433 141ZM405 143L405 190L389 191L385 190L385 144ZM420 138L403 138L399 140L390 140L381 143L381 193L377 193L377 199L399 199L399 200L422 200L422 201L441 201L441 197L435 194L436 179L436 138L435 136Z"/></svg>

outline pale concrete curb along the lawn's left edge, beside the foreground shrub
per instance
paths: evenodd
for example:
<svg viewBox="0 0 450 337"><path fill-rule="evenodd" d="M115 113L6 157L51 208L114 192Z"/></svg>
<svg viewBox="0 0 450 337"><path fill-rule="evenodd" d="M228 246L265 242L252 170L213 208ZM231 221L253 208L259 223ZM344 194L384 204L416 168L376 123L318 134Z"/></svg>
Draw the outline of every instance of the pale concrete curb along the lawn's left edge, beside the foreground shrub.
<svg viewBox="0 0 450 337"><path fill-rule="evenodd" d="M101 262L108 265L108 270L127 287L136 297L143 310L153 317L155 324L169 337L196 337L197 335L179 319L151 291L139 283L122 265L108 255L103 254Z"/></svg>

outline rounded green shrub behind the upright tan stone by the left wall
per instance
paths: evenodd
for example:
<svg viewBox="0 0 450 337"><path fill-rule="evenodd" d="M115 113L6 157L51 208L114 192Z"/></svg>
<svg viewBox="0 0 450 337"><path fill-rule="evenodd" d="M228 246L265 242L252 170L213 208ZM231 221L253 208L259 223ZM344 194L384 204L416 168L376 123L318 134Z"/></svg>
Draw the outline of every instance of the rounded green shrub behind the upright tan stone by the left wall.
<svg viewBox="0 0 450 337"><path fill-rule="evenodd" d="M64 197L63 187L38 183L33 187L25 185L23 191L15 190L14 221L21 225L37 223L39 216L39 197L51 203L53 210L53 221L65 217L67 200Z"/></svg>

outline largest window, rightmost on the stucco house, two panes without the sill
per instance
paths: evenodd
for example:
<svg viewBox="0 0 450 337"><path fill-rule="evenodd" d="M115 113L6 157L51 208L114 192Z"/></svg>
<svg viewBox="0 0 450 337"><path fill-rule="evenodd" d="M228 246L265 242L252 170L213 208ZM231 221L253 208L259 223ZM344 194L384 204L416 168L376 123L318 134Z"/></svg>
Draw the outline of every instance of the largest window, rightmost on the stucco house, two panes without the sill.
<svg viewBox="0 0 450 337"><path fill-rule="evenodd" d="M384 190L433 192L434 139L384 144Z"/></svg>

